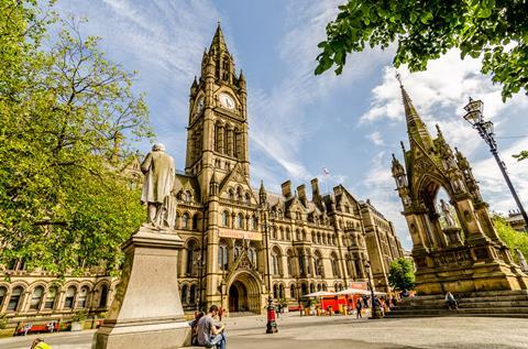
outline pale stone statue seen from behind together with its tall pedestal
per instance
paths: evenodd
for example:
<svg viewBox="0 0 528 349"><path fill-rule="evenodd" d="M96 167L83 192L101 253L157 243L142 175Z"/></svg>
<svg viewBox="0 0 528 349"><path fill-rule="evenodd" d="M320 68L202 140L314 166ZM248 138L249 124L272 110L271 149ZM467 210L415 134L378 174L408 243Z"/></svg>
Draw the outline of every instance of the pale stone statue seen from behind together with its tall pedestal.
<svg viewBox="0 0 528 349"><path fill-rule="evenodd" d="M141 165L146 222L123 246L121 283L92 348L180 348L190 336L178 291L174 160L154 144Z"/></svg>

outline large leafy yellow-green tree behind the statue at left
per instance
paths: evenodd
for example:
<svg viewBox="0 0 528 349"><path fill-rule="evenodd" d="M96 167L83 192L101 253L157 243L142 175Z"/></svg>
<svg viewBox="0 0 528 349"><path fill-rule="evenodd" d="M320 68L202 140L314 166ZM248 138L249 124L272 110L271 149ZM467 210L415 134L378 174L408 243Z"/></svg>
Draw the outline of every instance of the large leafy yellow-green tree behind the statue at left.
<svg viewBox="0 0 528 349"><path fill-rule="evenodd" d="M144 216L122 170L128 140L151 137L148 111L97 37L37 3L0 4L0 263L112 270Z"/></svg>

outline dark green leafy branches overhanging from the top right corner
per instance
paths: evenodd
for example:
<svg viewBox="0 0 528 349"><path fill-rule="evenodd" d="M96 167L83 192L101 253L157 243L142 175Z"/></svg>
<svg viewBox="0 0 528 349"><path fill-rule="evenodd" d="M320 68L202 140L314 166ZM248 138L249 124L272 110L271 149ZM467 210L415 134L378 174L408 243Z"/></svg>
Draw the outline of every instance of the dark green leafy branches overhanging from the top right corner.
<svg viewBox="0 0 528 349"><path fill-rule="evenodd" d="M461 56L481 57L482 73L503 85L503 100L528 92L528 7L524 0L349 0L327 25L327 40L316 74L337 66L346 54L365 46L382 48L397 42L396 67L425 70L458 47Z"/></svg>

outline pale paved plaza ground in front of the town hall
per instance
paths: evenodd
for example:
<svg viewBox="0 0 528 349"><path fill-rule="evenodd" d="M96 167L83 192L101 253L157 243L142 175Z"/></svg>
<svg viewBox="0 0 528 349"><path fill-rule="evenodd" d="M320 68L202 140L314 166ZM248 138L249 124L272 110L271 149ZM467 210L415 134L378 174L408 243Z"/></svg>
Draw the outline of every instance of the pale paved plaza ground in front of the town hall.
<svg viewBox="0 0 528 349"><path fill-rule="evenodd" d="M355 319L345 316L278 319L279 332L266 335L265 317L226 320L228 348L528 348L528 320L498 317ZM94 330L42 335L54 349L89 349ZM26 349L35 336L6 338L0 349Z"/></svg>

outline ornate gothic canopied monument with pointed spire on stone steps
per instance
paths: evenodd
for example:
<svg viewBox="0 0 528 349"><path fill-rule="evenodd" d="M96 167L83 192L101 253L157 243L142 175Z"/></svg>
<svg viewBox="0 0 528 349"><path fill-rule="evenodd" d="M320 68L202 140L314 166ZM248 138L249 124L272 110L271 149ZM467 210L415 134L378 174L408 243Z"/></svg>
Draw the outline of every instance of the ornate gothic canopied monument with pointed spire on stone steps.
<svg viewBox="0 0 528 349"><path fill-rule="evenodd" d="M392 170L413 239L418 295L526 293L528 276L499 239L470 163L453 153L438 126L437 138L429 134L402 83L400 89L410 150L402 143L405 168L393 154ZM441 188L449 203L439 205Z"/></svg>

